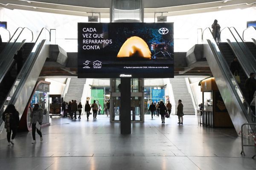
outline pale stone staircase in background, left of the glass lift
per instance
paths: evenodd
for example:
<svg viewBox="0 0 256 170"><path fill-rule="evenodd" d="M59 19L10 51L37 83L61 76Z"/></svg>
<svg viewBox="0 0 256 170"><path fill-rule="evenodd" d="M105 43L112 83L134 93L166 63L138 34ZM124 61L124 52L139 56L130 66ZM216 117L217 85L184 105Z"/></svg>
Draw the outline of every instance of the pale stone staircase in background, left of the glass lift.
<svg viewBox="0 0 256 170"><path fill-rule="evenodd" d="M84 84L86 79L71 78L70 85L65 95L64 101L69 102L71 100L76 100L76 103L81 102L81 97L83 95Z"/></svg>

